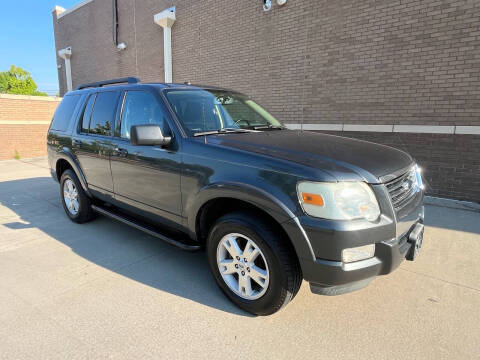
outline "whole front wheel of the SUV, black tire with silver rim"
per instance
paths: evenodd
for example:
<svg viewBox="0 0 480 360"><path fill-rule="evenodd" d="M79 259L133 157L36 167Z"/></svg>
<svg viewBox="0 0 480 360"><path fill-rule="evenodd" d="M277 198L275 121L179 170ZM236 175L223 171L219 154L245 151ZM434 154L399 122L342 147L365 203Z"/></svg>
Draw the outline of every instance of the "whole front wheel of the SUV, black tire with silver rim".
<svg viewBox="0 0 480 360"><path fill-rule="evenodd" d="M232 240L238 247L233 246ZM259 216L243 212L222 216L213 225L206 247L210 269L220 289L251 314L277 312L300 289L302 273L293 247ZM245 257L239 255L240 260L236 260L235 249ZM255 262L249 260L249 254L256 254ZM246 275L241 276L242 271Z"/></svg>

